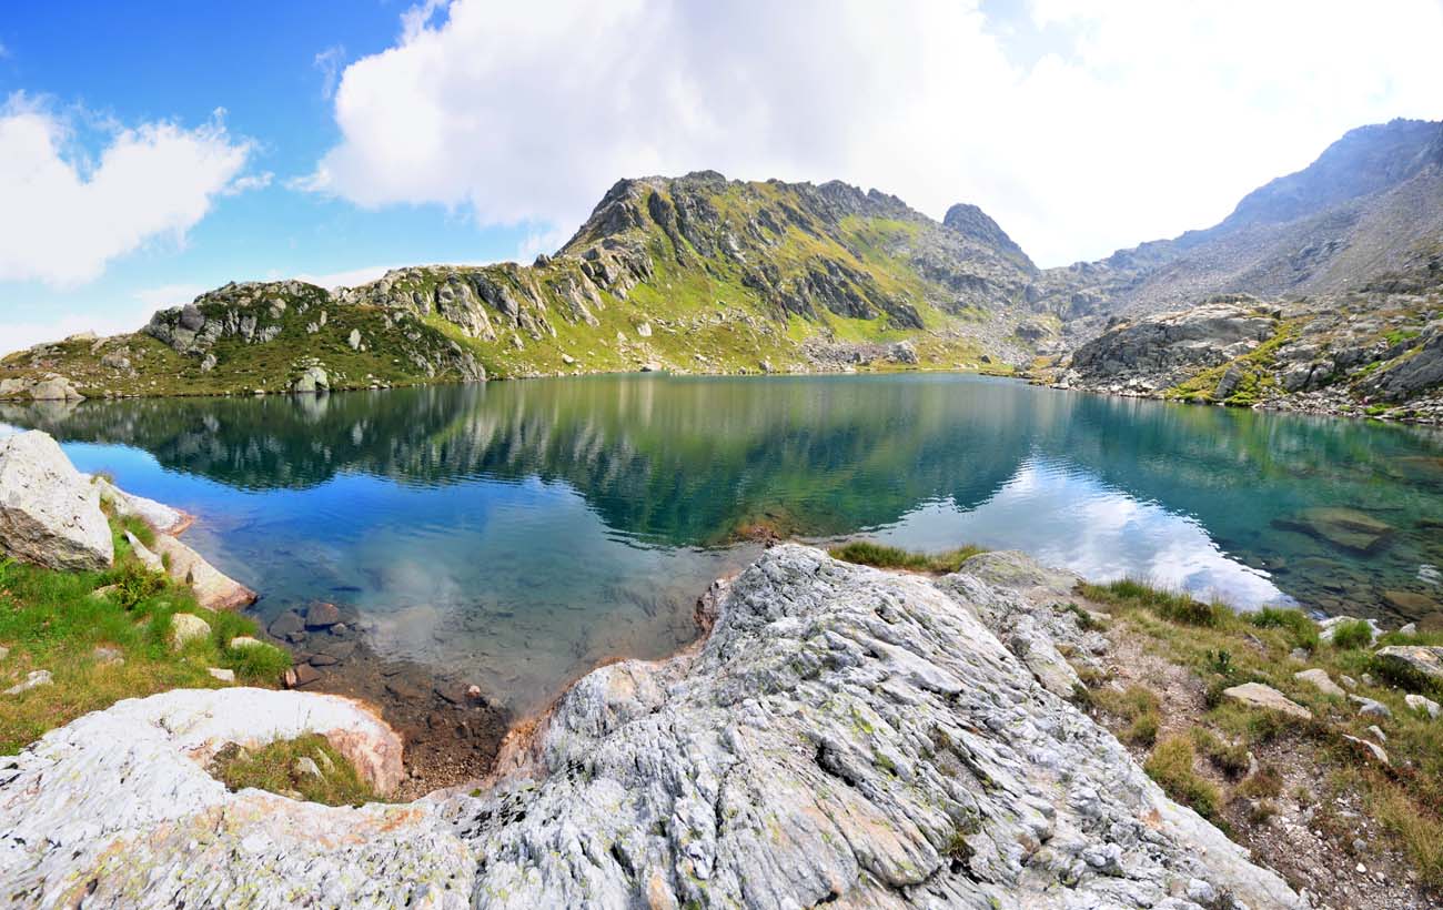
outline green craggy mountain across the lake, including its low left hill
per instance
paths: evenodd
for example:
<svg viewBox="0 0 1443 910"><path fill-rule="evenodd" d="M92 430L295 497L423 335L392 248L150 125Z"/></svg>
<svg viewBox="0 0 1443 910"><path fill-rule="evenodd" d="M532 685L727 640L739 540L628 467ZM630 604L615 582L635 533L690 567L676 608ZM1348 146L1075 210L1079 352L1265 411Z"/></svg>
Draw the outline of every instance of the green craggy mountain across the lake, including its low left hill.
<svg viewBox="0 0 1443 910"><path fill-rule="evenodd" d="M1027 303L1036 268L980 211L952 222L837 182L622 180L532 265L229 284L137 335L12 355L0 397L1029 362L1058 329Z"/></svg>

